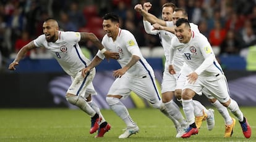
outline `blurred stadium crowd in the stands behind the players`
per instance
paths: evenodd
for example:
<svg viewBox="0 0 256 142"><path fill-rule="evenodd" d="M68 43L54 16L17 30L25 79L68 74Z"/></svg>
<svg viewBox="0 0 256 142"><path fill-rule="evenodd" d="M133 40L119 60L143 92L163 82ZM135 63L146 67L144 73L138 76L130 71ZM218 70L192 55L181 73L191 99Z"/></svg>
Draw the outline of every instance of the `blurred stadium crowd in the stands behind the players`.
<svg viewBox="0 0 256 142"><path fill-rule="evenodd" d="M145 0L2 0L0 1L0 68L23 45L43 33L42 23L48 17L59 21L61 30L93 32L101 39L102 16L114 12L121 17L120 26L134 34L140 47L160 46L157 36L145 33L142 16L135 4ZM248 0L160 0L149 11L161 18L161 6L173 2L187 10L189 21L198 25L208 37L217 55L240 55L243 49L256 43L256 1ZM95 55L91 42L82 47ZM27 53L27 58L51 58L43 50Z"/></svg>

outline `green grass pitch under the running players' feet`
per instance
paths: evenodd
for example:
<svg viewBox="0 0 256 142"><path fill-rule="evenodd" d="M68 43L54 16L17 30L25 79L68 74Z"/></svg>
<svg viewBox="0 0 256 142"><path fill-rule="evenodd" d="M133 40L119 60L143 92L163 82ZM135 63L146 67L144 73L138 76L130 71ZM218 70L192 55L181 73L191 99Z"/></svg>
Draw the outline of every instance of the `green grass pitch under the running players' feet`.
<svg viewBox="0 0 256 142"><path fill-rule="evenodd" d="M90 117L79 109L0 109L0 141L256 141L256 108L241 108L252 127L252 136L244 138L239 122L236 122L231 138L223 138L224 120L215 109L215 128L208 131L203 122L198 135L175 138L173 122L153 108L129 109L130 116L139 125L140 132L119 140L125 128L124 122L113 111L101 112L111 124L104 138L90 135ZM231 114L233 117L233 114Z"/></svg>

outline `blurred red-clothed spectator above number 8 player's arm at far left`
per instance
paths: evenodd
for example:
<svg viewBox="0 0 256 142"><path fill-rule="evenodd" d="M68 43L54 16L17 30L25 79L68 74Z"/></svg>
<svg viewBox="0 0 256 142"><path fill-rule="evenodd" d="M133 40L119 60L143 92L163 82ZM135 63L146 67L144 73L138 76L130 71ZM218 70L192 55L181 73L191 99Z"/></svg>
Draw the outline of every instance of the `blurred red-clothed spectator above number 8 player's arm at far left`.
<svg viewBox="0 0 256 142"><path fill-rule="evenodd" d="M32 41L29 37L29 33L27 31L23 31L21 34L21 37L18 38L15 42L15 53L18 53L20 49L22 49L22 47L24 45L27 45L30 41ZM30 56L30 52L27 52L26 57Z"/></svg>

